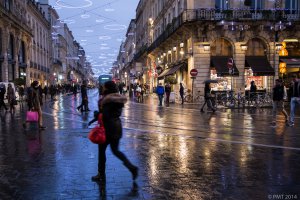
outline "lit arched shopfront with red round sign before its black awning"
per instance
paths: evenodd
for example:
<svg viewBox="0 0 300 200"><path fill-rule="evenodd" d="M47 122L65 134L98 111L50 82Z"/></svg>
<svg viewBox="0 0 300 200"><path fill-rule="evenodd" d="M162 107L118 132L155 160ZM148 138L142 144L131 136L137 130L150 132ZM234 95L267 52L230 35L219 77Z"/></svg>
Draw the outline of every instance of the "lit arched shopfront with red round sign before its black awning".
<svg viewBox="0 0 300 200"><path fill-rule="evenodd" d="M211 44L210 78L218 80L212 84L212 90L224 91L233 89L233 81L239 71L233 60L233 45L225 38L218 38ZM232 62L232 68L228 63Z"/></svg>

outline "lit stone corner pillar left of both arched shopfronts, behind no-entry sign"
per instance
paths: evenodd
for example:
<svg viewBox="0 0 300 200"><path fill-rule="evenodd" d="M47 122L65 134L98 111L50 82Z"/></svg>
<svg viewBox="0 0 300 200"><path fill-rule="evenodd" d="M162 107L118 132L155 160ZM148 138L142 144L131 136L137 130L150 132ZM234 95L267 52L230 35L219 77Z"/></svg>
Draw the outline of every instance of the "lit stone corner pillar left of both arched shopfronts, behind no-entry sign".
<svg viewBox="0 0 300 200"><path fill-rule="evenodd" d="M192 68L198 70L198 75L194 82L194 95L197 95L198 91L200 91L201 94L203 94L203 81L210 79L210 51L205 51L201 42L195 42L193 57L194 63ZM189 68L188 73L190 73L190 70L192 68Z"/></svg>

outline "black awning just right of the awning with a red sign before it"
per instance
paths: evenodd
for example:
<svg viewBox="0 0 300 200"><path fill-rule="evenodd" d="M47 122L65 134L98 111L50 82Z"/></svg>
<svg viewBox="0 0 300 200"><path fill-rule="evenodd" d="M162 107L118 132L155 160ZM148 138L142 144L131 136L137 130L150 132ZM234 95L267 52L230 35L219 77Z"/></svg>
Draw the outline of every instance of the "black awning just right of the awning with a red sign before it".
<svg viewBox="0 0 300 200"><path fill-rule="evenodd" d="M246 68L251 68L253 76L274 76L274 68L266 56L246 56Z"/></svg>

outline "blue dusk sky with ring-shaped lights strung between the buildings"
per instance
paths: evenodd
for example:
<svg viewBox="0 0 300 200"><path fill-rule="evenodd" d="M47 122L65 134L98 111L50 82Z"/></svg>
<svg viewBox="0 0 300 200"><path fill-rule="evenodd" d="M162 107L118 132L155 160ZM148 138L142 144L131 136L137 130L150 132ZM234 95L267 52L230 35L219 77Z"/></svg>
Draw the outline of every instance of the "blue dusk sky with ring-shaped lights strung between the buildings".
<svg viewBox="0 0 300 200"><path fill-rule="evenodd" d="M49 0L84 48L96 75L109 72L139 0Z"/></svg>

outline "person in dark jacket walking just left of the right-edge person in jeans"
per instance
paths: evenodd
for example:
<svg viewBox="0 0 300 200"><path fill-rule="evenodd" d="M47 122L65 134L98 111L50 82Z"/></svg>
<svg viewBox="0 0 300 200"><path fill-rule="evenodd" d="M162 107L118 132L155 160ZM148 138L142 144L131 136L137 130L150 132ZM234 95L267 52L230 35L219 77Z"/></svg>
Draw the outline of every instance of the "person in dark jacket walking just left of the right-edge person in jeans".
<svg viewBox="0 0 300 200"><path fill-rule="evenodd" d="M284 117L285 123L288 124L288 114L284 109L284 100L287 98L286 88L283 85L281 79L275 80L275 85L273 87L273 120L272 126L276 126L276 115L277 111L280 110Z"/></svg>

